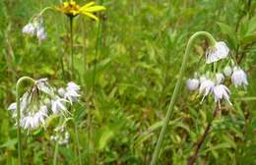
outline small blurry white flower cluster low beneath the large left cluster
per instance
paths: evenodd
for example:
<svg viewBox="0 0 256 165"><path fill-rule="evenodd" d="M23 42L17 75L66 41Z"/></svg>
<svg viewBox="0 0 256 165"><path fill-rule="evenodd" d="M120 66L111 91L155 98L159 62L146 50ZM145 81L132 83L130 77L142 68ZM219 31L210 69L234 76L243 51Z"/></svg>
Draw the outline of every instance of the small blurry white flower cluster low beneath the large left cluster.
<svg viewBox="0 0 256 165"><path fill-rule="evenodd" d="M50 140L58 142L59 145L66 145L69 143L70 135L65 126L59 126L54 129L54 136L51 136Z"/></svg>

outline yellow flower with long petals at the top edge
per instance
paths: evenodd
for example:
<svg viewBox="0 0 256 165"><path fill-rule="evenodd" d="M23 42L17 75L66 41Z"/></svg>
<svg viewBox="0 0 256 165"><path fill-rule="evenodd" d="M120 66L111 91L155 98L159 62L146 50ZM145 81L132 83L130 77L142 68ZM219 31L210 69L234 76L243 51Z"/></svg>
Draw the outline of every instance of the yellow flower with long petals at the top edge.
<svg viewBox="0 0 256 165"><path fill-rule="evenodd" d="M98 18L94 13L105 10L105 7L95 5L95 2L90 2L83 6L78 5L74 0L63 2L61 7L57 7L57 10L66 14L69 17L75 17L77 15L86 15L96 21Z"/></svg>

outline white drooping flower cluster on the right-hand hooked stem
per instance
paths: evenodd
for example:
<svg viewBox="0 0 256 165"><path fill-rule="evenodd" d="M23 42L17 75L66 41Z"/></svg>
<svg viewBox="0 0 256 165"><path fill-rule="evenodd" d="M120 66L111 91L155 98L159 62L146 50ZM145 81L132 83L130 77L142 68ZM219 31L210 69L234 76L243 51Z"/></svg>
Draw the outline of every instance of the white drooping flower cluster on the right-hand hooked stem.
<svg viewBox="0 0 256 165"><path fill-rule="evenodd" d="M224 42L217 42L215 48L210 48L206 55L206 63L217 62L220 59L224 59L228 55L229 49L226 47ZM235 86L246 87L248 85L247 76L243 70L238 66L224 67L223 73L207 74L207 76L198 75L193 79L187 81L187 88L189 90L199 90L199 93L203 95L202 101L206 96L213 94L215 102L221 107L221 100L226 100L230 105L229 100L230 90L224 85L225 80L230 79L231 83Z"/></svg>

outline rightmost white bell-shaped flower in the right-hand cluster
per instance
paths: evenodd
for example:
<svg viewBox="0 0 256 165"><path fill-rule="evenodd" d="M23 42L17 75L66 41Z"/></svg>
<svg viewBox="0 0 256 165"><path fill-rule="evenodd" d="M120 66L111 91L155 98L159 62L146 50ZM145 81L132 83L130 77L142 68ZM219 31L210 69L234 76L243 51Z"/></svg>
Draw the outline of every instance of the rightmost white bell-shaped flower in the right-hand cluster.
<svg viewBox="0 0 256 165"><path fill-rule="evenodd" d="M243 70L239 67L233 68L233 73L231 76L231 82L234 84L235 87L237 86L244 86L248 85L247 76Z"/></svg>

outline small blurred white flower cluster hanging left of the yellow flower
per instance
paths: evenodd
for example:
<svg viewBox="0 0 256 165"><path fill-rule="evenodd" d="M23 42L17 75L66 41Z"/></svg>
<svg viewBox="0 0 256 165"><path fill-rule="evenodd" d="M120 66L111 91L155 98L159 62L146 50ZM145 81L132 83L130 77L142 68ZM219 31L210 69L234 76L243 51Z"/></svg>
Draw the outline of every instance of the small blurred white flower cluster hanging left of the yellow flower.
<svg viewBox="0 0 256 165"><path fill-rule="evenodd" d="M23 33L28 35L36 35L39 42L47 38L47 33L43 27L41 18L33 19L33 21L23 27Z"/></svg>

